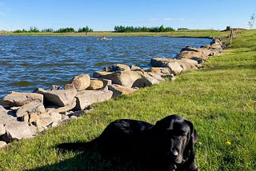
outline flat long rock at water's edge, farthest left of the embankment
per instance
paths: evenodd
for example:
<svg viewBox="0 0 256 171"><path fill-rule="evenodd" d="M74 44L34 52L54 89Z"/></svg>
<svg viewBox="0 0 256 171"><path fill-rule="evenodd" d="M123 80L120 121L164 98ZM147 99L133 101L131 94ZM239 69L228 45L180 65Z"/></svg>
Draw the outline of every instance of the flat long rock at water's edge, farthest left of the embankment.
<svg viewBox="0 0 256 171"><path fill-rule="evenodd" d="M43 101L43 96L40 93L19 93L12 91L2 99L3 103L9 107L21 106L29 103L30 101Z"/></svg>

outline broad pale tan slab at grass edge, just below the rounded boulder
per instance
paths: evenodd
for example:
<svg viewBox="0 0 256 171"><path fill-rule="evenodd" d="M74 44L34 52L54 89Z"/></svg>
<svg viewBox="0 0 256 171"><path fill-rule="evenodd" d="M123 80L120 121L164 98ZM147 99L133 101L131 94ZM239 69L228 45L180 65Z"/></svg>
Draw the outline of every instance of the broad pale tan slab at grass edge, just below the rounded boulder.
<svg viewBox="0 0 256 171"><path fill-rule="evenodd" d="M85 90L79 92L76 96L77 105L75 110L86 109L94 102L101 102L109 100L112 97L113 92L109 90Z"/></svg>

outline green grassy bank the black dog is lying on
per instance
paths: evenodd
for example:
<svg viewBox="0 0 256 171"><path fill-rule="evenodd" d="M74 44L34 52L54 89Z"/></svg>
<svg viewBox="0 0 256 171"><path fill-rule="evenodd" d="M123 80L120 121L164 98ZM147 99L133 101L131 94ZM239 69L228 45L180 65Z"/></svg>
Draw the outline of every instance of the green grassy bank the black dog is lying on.
<svg viewBox="0 0 256 171"><path fill-rule="evenodd" d="M206 31L200 37L217 37L215 34ZM189 36L196 37L198 32ZM256 31L242 31L224 54L210 58L202 70L94 104L93 111L76 121L34 139L15 141L0 150L0 170L134 169L130 163L103 161L97 153L59 153L54 146L63 141L90 141L115 119L155 123L174 113L192 121L198 131L195 149L200 170L255 170L255 54Z"/></svg>

